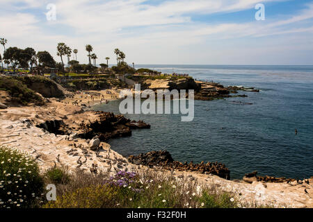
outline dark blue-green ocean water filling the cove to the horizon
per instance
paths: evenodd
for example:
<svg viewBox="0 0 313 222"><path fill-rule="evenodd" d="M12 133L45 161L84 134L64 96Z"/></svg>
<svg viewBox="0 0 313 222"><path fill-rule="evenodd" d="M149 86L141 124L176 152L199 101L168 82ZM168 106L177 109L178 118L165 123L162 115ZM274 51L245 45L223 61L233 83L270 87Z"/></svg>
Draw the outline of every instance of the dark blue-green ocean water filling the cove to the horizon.
<svg viewBox="0 0 313 222"><path fill-rule="evenodd" d="M195 118L176 114L127 114L151 124L109 141L122 155L166 149L175 160L223 162L231 178L245 173L313 176L313 66L137 65L163 73L187 73L225 86L256 87L248 97L195 101ZM238 103L242 102L242 103ZM243 105L252 103L252 105ZM95 110L118 113L120 101ZM295 128L298 135L295 135Z"/></svg>

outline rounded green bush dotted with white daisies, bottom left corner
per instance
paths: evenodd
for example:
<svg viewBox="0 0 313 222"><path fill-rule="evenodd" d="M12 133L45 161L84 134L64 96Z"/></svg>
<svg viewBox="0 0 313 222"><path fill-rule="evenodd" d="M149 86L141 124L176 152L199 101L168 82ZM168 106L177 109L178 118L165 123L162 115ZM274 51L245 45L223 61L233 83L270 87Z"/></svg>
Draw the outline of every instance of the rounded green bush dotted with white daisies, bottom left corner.
<svg viewBox="0 0 313 222"><path fill-rule="evenodd" d="M31 157L0 147L0 208L34 207L43 186L38 164Z"/></svg>

